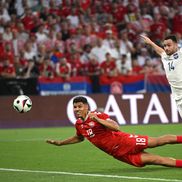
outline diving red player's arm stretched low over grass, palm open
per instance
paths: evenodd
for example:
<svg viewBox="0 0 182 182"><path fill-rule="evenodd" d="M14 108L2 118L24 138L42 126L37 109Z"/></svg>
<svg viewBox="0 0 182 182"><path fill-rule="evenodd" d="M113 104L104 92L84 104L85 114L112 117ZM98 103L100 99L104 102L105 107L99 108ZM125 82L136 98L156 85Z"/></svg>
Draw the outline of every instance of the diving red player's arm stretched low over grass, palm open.
<svg viewBox="0 0 182 182"><path fill-rule="evenodd" d="M84 140L83 136L75 135L75 136L67 138L65 140L46 140L46 142L49 143L49 144L61 146L61 145L68 145L68 144L79 143L79 142L82 142L83 140Z"/></svg>

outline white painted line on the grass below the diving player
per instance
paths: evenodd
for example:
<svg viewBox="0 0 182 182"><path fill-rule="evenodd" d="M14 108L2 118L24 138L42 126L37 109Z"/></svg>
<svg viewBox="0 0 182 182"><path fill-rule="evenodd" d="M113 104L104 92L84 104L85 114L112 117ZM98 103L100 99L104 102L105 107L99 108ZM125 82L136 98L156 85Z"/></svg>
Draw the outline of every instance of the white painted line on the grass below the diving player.
<svg viewBox="0 0 182 182"><path fill-rule="evenodd" d="M143 177L137 177L137 176L87 174L87 173L76 173L76 172L72 173L72 172L63 172L63 171L39 171L39 170L26 170L26 169L9 169L9 168L0 168L0 171L25 172L25 173L42 173L42 174L60 174L60 175L71 175L71 176L89 176L89 177L132 179L132 180L146 180L146 181L182 182L182 180L179 180L179 179L143 178Z"/></svg>

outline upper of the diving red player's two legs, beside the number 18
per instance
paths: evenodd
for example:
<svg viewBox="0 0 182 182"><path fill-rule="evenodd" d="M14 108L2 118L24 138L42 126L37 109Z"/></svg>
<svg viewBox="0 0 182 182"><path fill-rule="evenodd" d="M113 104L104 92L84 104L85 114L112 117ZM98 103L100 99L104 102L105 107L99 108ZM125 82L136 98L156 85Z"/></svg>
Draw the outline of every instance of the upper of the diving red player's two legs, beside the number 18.
<svg viewBox="0 0 182 182"><path fill-rule="evenodd" d="M160 137L149 137L148 148L158 147L166 144L182 143L182 136L178 135L163 135Z"/></svg>

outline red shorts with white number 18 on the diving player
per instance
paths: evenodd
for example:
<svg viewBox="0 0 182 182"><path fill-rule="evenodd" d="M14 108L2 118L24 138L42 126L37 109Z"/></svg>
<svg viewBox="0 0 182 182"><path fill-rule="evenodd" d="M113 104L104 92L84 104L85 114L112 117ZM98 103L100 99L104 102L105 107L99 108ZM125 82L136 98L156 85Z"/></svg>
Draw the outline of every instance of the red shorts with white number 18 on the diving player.
<svg viewBox="0 0 182 182"><path fill-rule="evenodd" d="M141 161L141 154L148 146L148 136L128 135L124 143L113 153L113 157L136 167L143 167L145 164ZM128 151L123 153L126 148Z"/></svg>

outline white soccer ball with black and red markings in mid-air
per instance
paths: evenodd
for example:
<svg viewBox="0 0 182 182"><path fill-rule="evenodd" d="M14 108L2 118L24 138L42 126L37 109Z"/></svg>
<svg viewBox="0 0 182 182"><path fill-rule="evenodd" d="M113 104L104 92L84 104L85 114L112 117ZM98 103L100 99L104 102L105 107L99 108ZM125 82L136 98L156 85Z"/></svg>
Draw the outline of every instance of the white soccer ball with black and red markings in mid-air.
<svg viewBox="0 0 182 182"><path fill-rule="evenodd" d="M25 113L32 108L32 101L26 95L19 95L13 102L13 107L19 113Z"/></svg>

